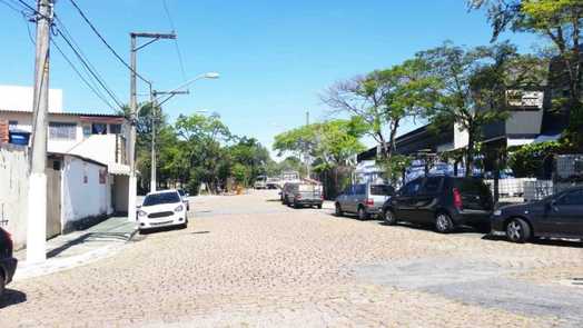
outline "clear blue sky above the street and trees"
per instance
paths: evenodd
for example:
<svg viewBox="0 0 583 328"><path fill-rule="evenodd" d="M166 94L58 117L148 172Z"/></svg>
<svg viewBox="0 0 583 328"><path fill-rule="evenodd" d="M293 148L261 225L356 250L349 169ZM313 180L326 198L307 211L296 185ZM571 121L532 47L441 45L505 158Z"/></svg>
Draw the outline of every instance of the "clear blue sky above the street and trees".
<svg viewBox="0 0 583 328"><path fill-rule="evenodd" d="M77 2L128 60L130 31L171 29L162 0ZM217 71L221 78L198 81L191 95L172 99L165 112L174 119L201 109L216 111L234 133L255 137L269 148L275 135L304 123L306 110L314 120L329 117L318 95L335 81L391 67L444 40L478 46L487 43L491 36L483 13L468 13L464 0L167 3L186 78L208 71ZM129 72L92 34L69 0L59 0L56 12L107 83L127 102ZM31 85L33 46L27 23L3 3L0 21L4 44L0 85ZM33 30L32 24L29 27ZM532 36L506 37L522 51L541 42ZM171 41L159 41L141 50L138 70L158 90L172 89L184 81ZM66 110L110 111L57 51L52 53L50 83L51 88L63 89ZM140 92L147 92L145 85L140 87ZM408 123L402 132L412 128ZM370 140L365 141L372 145Z"/></svg>

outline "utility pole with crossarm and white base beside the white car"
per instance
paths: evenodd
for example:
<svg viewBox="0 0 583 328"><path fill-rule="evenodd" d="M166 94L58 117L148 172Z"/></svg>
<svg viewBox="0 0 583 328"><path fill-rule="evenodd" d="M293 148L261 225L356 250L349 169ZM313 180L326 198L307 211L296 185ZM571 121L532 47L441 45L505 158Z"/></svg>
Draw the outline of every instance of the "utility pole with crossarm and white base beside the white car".
<svg viewBox="0 0 583 328"><path fill-rule="evenodd" d="M128 195L128 220L136 221L136 205L137 205L137 191L138 191L138 179L136 177L136 123L138 121L138 100L137 100L137 52L160 40L160 39L176 39L176 33L137 33L131 32L130 36L130 59L131 59L131 72L130 72L130 97L129 97L129 138L128 138L128 158L129 158L129 195ZM151 39L150 41L137 47L137 38Z"/></svg>

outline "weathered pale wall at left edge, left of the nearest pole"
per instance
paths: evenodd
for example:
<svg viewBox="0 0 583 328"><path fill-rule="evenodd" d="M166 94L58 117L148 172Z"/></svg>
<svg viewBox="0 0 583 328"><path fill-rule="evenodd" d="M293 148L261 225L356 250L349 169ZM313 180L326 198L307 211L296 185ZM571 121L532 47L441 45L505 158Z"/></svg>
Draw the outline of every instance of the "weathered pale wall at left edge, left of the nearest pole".
<svg viewBox="0 0 583 328"><path fill-rule="evenodd" d="M28 150L0 145L0 226L12 233L14 247L27 240Z"/></svg>

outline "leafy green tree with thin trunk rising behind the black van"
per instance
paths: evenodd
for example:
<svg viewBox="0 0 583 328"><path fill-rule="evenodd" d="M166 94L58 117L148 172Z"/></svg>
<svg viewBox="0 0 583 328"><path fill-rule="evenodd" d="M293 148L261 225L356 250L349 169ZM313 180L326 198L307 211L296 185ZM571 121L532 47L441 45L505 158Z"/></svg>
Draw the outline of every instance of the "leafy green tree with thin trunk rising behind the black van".
<svg viewBox="0 0 583 328"><path fill-rule="evenodd" d="M472 173L482 127L505 119L508 64L517 58L508 43L466 50L445 42L417 53L428 73L439 81L436 97L425 108L433 127L458 127L468 135L465 152L466 176Z"/></svg>

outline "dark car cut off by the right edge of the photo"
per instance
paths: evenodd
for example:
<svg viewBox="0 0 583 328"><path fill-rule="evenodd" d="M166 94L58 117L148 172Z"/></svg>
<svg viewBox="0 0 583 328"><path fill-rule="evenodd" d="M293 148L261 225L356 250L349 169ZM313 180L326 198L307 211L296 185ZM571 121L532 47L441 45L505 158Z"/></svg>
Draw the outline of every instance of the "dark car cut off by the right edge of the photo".
<svg viewBox="0 0 583 328"><path fill-rule="evenodd" d="M492 216L492 230L514 242L533 237L583 238L583 187L538 201L502 207Z"/></svg>

